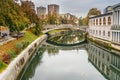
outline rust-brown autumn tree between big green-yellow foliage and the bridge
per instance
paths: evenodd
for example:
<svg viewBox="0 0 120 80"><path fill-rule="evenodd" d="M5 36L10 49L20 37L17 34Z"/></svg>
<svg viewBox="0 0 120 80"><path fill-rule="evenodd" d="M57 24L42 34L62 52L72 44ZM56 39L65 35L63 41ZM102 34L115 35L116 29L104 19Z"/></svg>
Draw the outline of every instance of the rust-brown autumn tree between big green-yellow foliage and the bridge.
<svg viewBox="0 0 120 80"><path fill-rule="evenodd" d="M38 18L37 14L35 13L35 10L31 9L31 6L26 1L22 2L21 7L26 13L27 18L30 20L30 23L35 24L34 33L36 35L39 35L43 29L43 23Z"/></svg>

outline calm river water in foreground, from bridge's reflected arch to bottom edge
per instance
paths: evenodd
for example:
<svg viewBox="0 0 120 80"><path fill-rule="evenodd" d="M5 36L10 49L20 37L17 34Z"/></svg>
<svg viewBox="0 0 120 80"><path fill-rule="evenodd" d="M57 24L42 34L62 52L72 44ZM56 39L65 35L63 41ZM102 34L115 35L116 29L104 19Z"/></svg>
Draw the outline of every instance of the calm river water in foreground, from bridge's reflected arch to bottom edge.
<svg viewBox="0 0 120 80"><path fill-rule="evenodd" d="M74 46L45 42L26 65L19 80L120 80L120 52L93 42Z"/></svg>

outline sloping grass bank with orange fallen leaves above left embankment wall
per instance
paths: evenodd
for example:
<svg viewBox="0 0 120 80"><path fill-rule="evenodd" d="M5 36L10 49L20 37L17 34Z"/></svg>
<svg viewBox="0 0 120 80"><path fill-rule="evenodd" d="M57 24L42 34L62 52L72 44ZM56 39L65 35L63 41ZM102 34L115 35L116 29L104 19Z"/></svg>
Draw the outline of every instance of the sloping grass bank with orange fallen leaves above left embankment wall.
<svg viewBox="0 0 120 80"><path fill-rule="evenodd" d="M34 35L30 31L26 31L24 37L18 38L16 40L8 42L7 44L1 45L0 46L0 72L3 69L5 69L5 67L8 65L2 62L2 59L5 57L5 55L10 54L10 51L13 50L14 52L16 50L16 44L23 42L23 41L29 42L30 44L37 38L38 36ZM14 54L13 52L11 52L10 55L12 55L12 58L15 58L18 54ZM13 60L13 59L10 58L10 60Z"/></svg>

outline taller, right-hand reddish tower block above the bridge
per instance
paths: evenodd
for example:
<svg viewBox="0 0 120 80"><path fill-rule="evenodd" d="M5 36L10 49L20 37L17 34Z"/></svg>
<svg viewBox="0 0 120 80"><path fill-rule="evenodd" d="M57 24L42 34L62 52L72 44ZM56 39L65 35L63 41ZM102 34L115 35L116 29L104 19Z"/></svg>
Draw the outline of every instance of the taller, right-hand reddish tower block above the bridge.
<svg viewBox="0 0 120 80"><path fill-rule="evenodd" d="M50 15L53 15L53 14L59 15L59 5L56 5L56 4L48 5L48 14L50 14Z"/></svg>

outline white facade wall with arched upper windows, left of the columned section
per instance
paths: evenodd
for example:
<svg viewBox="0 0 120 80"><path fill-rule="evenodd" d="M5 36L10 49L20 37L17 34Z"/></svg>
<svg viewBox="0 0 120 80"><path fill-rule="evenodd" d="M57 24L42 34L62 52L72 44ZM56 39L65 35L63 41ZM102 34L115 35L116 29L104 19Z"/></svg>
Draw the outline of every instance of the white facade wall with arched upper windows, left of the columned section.
<svg viewBox="0 0 120 80"><path fill-rule="evenodd" d="M111 18L111 25L112 25L112 14L89 19L89 35L96 38L111 41L112 33L111 33L111 25L108 24L108 17ZM101 25L100 25L100 18L101 18ZM106 19L105 25L103 24L103 18ZM98 24L96 24L97 23L96 19L98 19ZM94 20L95 20L95 24L94 24Z"/></svg>

